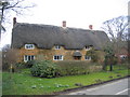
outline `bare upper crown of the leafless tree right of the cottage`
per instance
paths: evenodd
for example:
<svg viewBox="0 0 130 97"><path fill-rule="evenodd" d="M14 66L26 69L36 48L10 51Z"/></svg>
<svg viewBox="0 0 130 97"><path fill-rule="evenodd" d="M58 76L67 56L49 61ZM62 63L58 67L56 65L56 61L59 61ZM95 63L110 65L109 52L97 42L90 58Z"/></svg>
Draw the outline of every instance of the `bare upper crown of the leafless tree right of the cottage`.
<svg viewBox="0 0 130 97"><path fill-rule="evenodd" d="M128 30L128 16L119 16L103 23L102 27L112 41L123 39Z"/></svg>

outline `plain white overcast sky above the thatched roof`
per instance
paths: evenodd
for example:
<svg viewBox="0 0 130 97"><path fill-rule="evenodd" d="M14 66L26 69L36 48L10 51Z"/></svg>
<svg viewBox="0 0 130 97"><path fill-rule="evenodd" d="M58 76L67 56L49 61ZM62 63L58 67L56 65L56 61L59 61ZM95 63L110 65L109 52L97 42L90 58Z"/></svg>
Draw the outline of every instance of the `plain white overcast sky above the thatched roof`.
<svg viewBox="0 0 130 97"><path fill-rule="evenodd" d="M1 46L11 44L12 18L17 23L46 24L62 26L66 20L67 27L102 30L105 20L128 15L128 1L130 0L25 0L25 4L32 2L35 8L25 12L26 15L11 14L11 24L6 24L8 32L2 34Z"/></svg>

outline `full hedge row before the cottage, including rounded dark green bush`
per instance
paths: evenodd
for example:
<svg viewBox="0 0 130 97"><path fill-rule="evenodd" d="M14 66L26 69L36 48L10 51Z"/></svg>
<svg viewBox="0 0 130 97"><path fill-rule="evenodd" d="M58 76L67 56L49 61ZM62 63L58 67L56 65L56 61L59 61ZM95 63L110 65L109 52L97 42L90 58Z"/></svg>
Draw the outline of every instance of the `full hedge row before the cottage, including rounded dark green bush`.
<svg viewBox="0 0 130 97"><path fill-rule="evenodd" d="M102 70L98 64L88 64L87 61L57 61L52 63L43 60L35 64L30 71L35 77L56 78L63 75L87 74Z"/></svg>

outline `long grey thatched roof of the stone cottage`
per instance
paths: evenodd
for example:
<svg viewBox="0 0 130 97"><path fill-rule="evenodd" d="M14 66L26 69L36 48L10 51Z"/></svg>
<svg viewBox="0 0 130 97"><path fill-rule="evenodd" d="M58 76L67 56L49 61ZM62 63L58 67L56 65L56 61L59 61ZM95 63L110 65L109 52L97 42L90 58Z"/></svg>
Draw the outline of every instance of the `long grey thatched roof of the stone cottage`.
<svg viewBox="0 0 130 97"><path fill-rule="evenodd" d="M12 29L13 48L22 47L26 43L34 43L40 48L62 45L65 48L81 50L86 45L93 45L100 50L107 41L109 41L107 34L101 30L25 23L17 23Z"/></svg>

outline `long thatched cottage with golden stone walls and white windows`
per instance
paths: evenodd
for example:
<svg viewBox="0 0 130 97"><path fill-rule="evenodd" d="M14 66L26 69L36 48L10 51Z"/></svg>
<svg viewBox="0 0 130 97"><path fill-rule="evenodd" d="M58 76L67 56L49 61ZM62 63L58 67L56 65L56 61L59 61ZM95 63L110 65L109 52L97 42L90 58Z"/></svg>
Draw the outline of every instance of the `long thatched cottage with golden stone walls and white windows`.
<svg viewBox="0 0 130 97"><path fill-rule="evenodd" d="M92 27L90 27L92 28ZM17 61L34 59L91 60L87 52L101 50L108 41L104 31L63 26L16 23L12 29L12 48L18 50Z"/></svg>

